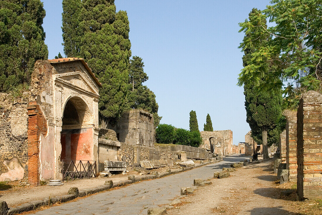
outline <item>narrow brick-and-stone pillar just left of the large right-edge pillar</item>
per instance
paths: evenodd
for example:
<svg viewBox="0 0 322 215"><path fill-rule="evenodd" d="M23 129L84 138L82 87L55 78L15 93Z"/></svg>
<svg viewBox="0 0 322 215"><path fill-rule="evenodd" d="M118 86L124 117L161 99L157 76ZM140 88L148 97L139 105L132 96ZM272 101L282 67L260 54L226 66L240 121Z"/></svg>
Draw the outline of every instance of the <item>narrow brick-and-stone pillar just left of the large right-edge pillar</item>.
<svg viewBox="0 0 322 215"><path fill-rule="evenodd" d="M296 111L285 111L286 123L286 169L289 169L289 181L297 177L297 138L296 138Z"/></svg>

